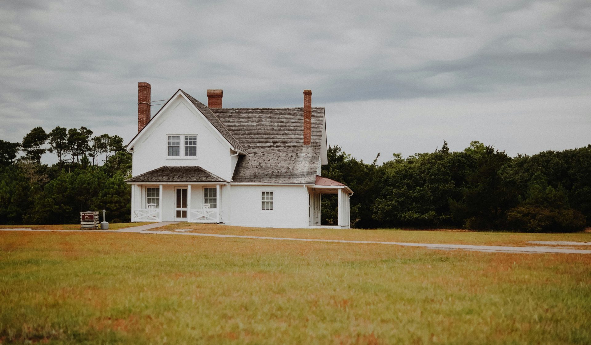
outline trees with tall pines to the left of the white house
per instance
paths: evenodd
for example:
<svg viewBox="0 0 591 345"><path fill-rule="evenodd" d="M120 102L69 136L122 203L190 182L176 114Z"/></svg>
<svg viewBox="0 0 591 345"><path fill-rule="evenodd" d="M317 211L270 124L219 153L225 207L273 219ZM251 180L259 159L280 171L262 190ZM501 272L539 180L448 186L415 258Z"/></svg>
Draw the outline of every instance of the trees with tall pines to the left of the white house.
<svg viewBox="0 0 591 345"><path fill-rule="evenodd" d="M57 163L43 164L45 154ZM129 222L131 154L118 135L85 127L32 129L22 142L0 139L0 224L74 224L79 212L108 209Z"/></svg>

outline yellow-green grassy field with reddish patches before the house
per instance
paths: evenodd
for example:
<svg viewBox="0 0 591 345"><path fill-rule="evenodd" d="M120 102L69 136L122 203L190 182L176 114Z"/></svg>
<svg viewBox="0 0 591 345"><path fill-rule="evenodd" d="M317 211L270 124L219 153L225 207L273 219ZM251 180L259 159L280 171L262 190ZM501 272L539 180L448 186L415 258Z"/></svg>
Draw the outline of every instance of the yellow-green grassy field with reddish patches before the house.
<svg viewBox="0 0 591 345"><path fill-rule="evenodd" d="M232 229L300 234L194 231ZM410 242L589 240L584 233L300 231ZM0 232L0 342L27 341L589 344L591 255Z"/></svg>

